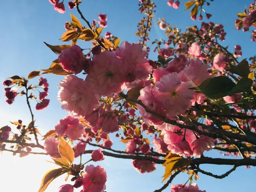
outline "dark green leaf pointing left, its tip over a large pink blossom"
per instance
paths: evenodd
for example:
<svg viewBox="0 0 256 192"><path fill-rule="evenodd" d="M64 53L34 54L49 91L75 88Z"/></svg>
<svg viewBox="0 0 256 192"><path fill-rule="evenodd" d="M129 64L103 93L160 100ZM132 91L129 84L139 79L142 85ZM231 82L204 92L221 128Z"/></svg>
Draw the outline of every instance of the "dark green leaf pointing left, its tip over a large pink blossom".
<svg viewBox="0 0 256 192"><path fill-rule="evenodd" d="M218 99L227 96L236 84L226 76L218 76L206 79L198 87L190 89L199 90L199 93L204 93L207 97Z"/></svg>

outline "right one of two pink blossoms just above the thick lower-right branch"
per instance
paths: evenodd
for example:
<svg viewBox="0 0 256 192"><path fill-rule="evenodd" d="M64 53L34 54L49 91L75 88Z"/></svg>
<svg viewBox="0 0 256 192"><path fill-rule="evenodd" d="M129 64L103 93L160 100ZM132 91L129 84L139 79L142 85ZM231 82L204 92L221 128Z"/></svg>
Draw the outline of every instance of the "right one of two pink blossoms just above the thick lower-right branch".
<svg viewBox="0 0 256 192"><path fill-rule="evenodd" d="M199 158L201 157L201 154L204 151L209 151L212 148L214 148L215 144L213 141L214 141L213 138L201 135L199 139L196 139L195 141L192 142L192 146L193 146L192 151L194 154L193 156L196 156Z"/></svg>

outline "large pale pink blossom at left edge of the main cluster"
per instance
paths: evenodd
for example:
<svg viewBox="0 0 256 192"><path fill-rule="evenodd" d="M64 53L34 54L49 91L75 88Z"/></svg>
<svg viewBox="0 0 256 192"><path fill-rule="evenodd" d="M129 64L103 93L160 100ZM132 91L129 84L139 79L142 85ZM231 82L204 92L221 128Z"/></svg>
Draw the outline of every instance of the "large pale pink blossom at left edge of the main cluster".
<svg viewBox="0 0 256 192"><path fill-rule="evenodd" d="M61 108L73 116L91 114L94 108L99 107L96 96L83 79L68 75L58 85L60 90L57 99L62 104Z"/></svg>

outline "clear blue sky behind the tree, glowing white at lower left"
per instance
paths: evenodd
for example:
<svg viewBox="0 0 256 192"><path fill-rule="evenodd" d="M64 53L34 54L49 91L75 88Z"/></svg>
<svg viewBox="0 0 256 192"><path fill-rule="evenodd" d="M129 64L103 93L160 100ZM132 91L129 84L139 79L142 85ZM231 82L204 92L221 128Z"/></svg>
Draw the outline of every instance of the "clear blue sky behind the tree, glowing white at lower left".
<svg viewBox="0 0 256 192"><path fill-rule="evenodd" d="M150 37L165 38L162 30L156 26L158 18L164 17L165 20L175 24L184 31L187 26L200 25L200 21L192 21L189 17L189 11L184 11L185 6L181 5L179 9L173 9L166 4L167 0L155 0L157 12L154 18L154 26L152 27ZM181 3L186 1L181 0ZM227 32L224 46L229 45L230 52L236 44L241 45L243 57L249 58L255 54L256 43L250 41L251 32L236 31L234 20L236 14L244 10L245 5L249 5L252 0L215 0L206 7L207 12L212 14L210 21L214 23L222 23L224 30ZM67 5L67 0L65 0ZM66 9L68 7L66 6ZM120 37L121 41L130 43L137 42L136 32L137 23L143 15L138 12L138 0L83 0L80 6L81 11L87 20L92 21L97 18L99 12L108 15L108 27L103 33L110 31L113 35ZM62 44L58 39L65 32L64 22L70 21L70 10L67 9L65 14L55 12L53 6L48 0L12 0L6 1L5 6L0 7L0 82L8 76L19 75L27 76L32 70L46 69L51 61L57 58L43 43L57 45ZM78 18L76 9L71 11ZM81 21L82 22L82 21ZM83 23L83 22L82 22ZM83 23L85 25L85 23ZM81 48L89 48L87 42L79 42ZM156 58L157 55L151 55ZM61 105L57 101L57 84L62 76L45 75L49 81L49 99L50 105L44 111L35 111L36 125L41 129L41 133L45 134L48 130L53 129L59 119L67 115L61 110ZM32 79L33 84L37 84L37 78ZM16 98L12 105L7 105L4 96L4 87L0 83L0 122L1 125L9 125L9 121L17 121L22 119L24 123L30 122L29 111L25 105L25 98ZM32 103L35 107L35 103ZM114 135L113 135L114 136ZM113 148L124 150L125 145L117 142ZM90 149L90 146L87 147ZM210 151L205 154L210 157L222 157L216 151ZM86 162L90 157L84 155L83 161ZM49 157L30 155L24 158L13 157L12 154L5 152L0 156L1 164L1 189L10 192L27 191L35 192L38 190L41 177L49 169L55 167L52 163L47 163ZM131 160L119 160L106 157L100 164L105 167L108 174L107 192L153 192L159 189L162 175L164 173L163 166L158 165L157 170L151 174L141 175L131 165ZM230 166L201 166L214 174L223 174L230 169ZM207 192L224 192L233 191L240 192L254 189L255 168L245 169L239 167L236 172L230 174L229 177L217 180L215 178L199 174L200 180L197 181L198 186ZM13 179L15 175L15 178ZM178 175L173 181L174 184L185 183L188 179L186 173ZM32 180L32 182L30 182ZM236 183L236 184L235 184ZM65 184L64 176L59 177L50 184L48 192L58 191L58 187ZM79 191L79 190L77 190ZM168 187L164 192L170 191Z"/></svg>

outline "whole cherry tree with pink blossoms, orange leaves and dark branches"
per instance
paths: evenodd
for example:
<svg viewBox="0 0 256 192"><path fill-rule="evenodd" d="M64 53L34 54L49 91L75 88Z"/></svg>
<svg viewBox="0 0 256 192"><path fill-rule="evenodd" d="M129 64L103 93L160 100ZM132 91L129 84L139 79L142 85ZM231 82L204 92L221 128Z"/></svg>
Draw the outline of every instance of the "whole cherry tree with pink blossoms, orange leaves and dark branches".
<svg viewBox="0 0 256 192"><path fill-rule="evenodd" d="M54 9L65 13L64 2L49 0ZM213 0L211 0L213 1ZM149 35L156 6L151 0L140 0L143 14L137 25L137 44L102 30L107 26L107 15L99 13L99 20L89 22L79 9L81 1L68 3L76 9L81 21L71 14L65 23L66 32L60 40L71 45L46 44L57 56L49 69L32 71L28 77L12 76L3 82L6 102L11 105L17 95L25 96L31 122L21 120L0 129L0 151L9 151L24 157L29 154L49 155L59 166L43 177L39 192L45 191L56 177L67 174L73 185L60 186L60 192L104 192L107 173L102 166L87 165L104 160L104 156L131 159L134 169L141 174L154 172L156 164L165 167L163 187L166 189L180 172L190 176L182 184L172 185L172 192L202 192L193 183L198 172L215 178L227 177L238 166L256 166L256 56L238 62L241 46L234 52L223 47L224 26L202 22L201 26L187 27L181 32L164 18L157 24L166 33L166 39L155 39L149 44ZM191 19L209 19L204 6L206 0L184 3L191 9ZM169 0L166 6L178 9L179 0ZM244 31L256 26L256 3L238 14L237 29ZM253 31L252 41L256 32ZM82 49L80 41L91 41L92 48ZM149 60L150 49L157 52L157 61ZM29 79L51 73L64 76L58 84L57 99L70 115L60 119L55 129L39 138L30 101L36 110L49 105L47 79L39 78L38 85ZM76 76L80 73L80 76ZM82 73L82 74L81 74ZM34 94L39 91L39 95ZM114 134L111 134L114 133ZM111 136L126 143L123 151L112 148ZM43 144L44 143L44 144ZM85 150L86 145L98 147ZM205 157L204 151L219 150L224 155L240 158ZM40 151L41 150L41 151ZM90 159L82 154L91 154ZM74 159L80 163L75 164ZM232 165L223 175L214 175L200 168L201 164ZM110 178L111 179L111 178Z"/></svg>

